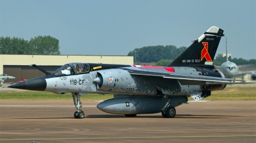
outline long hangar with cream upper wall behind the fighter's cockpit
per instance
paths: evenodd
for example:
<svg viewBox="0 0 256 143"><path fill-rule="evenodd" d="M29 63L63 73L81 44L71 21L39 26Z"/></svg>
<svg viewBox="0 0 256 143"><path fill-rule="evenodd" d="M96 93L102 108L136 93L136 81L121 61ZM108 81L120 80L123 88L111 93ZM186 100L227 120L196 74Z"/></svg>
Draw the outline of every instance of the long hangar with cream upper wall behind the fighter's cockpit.
<svg viewBox="0 0 256 143"><path fill-rule="evenodd" d="M70 56L70 55L6 55L0 54L0 74L6 73L16 79L4 82L19 82L33 79L45 74L29 66L36 64L47 72L53 72L67 63L102 63L102 64L133 64L133 56Z"/></svg>

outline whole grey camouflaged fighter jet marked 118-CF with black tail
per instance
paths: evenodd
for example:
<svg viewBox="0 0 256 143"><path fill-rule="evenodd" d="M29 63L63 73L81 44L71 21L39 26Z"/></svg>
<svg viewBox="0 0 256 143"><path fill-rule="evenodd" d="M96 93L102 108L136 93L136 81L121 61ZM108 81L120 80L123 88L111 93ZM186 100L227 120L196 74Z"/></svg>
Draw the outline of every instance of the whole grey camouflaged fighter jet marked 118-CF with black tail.
<svg viewBox="0 0 256 143"><path fill-rule="evenodd" d="M9 87L72 93L75 118L84 117L80 101L84 93L114 94L97 105L111 114L134 117L161 112L163 117L175 117L175 107L187 103L189 96L201 100L234 83L212 66L221 36L222 29L210 27L169 66L68 63L52 73L38 68L44 77Z"/></svg>

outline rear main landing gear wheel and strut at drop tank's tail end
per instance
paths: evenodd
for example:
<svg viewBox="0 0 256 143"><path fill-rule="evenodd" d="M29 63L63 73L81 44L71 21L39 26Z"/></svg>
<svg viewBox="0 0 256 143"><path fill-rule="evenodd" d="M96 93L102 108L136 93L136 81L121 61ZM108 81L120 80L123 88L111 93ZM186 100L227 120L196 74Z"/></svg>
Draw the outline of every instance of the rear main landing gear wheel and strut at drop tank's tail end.
<svg viewBox="0 0 256 143"><path fill-rule="evenodd" d="M174 107L170 106L170 100L168 100L168 96L164 95L162 97L163 97L163 102L166 102L163 109L161 110L162 116L169 117L169 118L175 117L176 110Z"/></svg>

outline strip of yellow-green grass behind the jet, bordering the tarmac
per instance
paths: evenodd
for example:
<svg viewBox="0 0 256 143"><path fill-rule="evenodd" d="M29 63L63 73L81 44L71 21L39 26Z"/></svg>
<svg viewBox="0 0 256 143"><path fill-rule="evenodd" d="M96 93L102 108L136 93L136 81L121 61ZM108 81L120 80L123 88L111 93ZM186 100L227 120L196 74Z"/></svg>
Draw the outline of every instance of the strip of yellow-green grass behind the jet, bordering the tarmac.
<svg viewBox="0 0 256 143"><path fill-rule="evenodd" d="M87 94L81 100L107 100L113 94ZM50 92L2 92L0 100L72 100L71 93L54 94ZM189 97L189 100L193 100ZM204 100L256 100L256 87L226 87L222 91L213 91Z"/></svg>

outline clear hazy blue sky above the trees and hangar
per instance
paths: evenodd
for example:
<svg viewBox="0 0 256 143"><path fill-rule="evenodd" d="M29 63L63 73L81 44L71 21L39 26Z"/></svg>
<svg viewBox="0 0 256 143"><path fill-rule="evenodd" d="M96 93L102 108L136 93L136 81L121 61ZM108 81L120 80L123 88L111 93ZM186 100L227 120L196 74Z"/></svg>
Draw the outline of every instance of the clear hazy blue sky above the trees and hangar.
<svg viewBox="0 0 256 143"><path fill-rule="evenodd" d="M232 57L255 59L255 7L255 0L0 0L0 36L50 35L63 55L127 56L150 45L189 47L217 26ZM224 52L225 37L217 54Z"/></svg>

